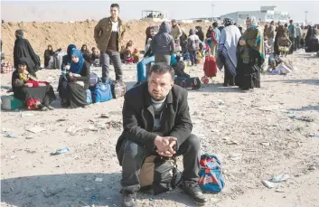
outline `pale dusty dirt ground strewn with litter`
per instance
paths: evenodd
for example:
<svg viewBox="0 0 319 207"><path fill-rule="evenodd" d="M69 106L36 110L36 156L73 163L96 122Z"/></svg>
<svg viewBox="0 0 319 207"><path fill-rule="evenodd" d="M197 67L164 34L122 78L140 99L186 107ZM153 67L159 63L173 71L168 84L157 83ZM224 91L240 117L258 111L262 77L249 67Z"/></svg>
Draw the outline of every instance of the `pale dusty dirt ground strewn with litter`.
<svg viewBox="0 0 319 207"><path fill-rule="evenodd" d="M298 70L286 76L262 75L261 89L224 88L220 72L201 90L189 91L192 132L201 138L202 154L220 158L226 182L222 193L207 195L207 206L319 206L319 58L300 51L290 58ZM202 65L187 70L202 77ZM60 71L38 74L57 88ZM136 65L124 66L124 74L132 87ZM5 95L10 74L1 74L1 81ZM77 207L92 204L93 195L96 207L120 206L115 146L122 104L123 98L64 109L57 100L54 111L2 111L1 206ZM109 118L100 118L104 113ZM35 126L44 131L28 131ZM69 133L70 127L78 131ZM14 137L7 137L8 132ZM70 151L50 155L64 146ZM277 189L261 183L283 173L290 178ZM180 189L151 198L137 194L137 206L195 206Z"/></svg>

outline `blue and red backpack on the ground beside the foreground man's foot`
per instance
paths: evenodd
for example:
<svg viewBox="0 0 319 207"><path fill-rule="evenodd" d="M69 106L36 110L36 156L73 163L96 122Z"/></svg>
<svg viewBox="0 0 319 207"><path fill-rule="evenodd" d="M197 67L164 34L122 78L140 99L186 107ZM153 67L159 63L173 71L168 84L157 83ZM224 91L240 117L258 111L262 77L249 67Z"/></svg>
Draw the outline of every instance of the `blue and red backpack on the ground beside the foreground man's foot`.
<svg viewBox="0 0 319 207"><path fill-rule="evenodd" d="M225 181L220 170L220 160L215 155L201 155L199 185L204 193L220 193Z"/></svg>

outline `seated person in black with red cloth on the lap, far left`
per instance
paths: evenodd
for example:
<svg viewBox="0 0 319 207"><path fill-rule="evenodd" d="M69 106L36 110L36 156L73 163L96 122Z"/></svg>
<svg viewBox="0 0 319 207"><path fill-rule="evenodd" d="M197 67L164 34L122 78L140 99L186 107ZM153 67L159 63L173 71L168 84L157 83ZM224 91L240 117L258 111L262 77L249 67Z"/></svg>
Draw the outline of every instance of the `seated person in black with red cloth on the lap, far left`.
<svg viewBox="0 0 319 207"><path fill-rule="evenodd" d="M52 86L38 81L30 74L25 58L18 61L18 69L12 75L14 97L25 102L28 109L53 110L50 104L56 99Z"/></svg>

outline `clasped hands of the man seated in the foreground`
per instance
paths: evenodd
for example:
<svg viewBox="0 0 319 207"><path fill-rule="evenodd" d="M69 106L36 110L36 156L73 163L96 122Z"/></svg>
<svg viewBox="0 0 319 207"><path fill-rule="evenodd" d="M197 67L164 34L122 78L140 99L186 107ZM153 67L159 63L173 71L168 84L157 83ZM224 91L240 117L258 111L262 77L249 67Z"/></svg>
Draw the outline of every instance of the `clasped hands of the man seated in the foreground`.
<svg viewBox="0 0 319 207"><path fill-rule="evenodd" d="M176 138L173 136L157 136L155 138L155 146L157 147L156 152L158 155L173 156L176 152L174 146L176 145Z"/></svg>

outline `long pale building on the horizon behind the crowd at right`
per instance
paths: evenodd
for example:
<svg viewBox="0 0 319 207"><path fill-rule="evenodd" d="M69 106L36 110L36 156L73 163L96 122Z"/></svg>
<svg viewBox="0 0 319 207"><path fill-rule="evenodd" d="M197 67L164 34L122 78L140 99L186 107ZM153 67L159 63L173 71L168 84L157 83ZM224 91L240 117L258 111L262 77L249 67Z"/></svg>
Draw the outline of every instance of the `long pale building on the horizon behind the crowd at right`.
<svg viewBox="0 0 319 207"><path fill-rule="evenodd" d="M255 16L259 22L269 23L271 21L286 23L289 21L289 14L277 11L277 6L260 6L260 11L236 12L220 16L222 21L226 17L232 18L235 23L244 24L248 16Z"/></svg>

